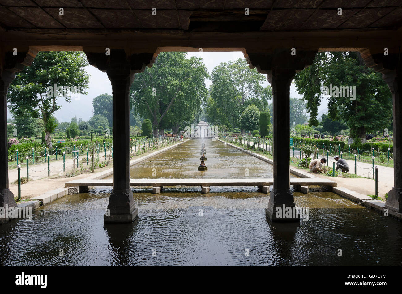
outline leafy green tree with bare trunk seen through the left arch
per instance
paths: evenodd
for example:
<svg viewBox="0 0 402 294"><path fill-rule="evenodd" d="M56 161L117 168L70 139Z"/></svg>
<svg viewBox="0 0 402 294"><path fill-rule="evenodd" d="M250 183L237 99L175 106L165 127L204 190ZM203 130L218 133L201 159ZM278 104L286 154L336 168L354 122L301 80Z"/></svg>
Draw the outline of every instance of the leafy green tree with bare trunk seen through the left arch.
<svg viewBox="0 0 402 294"><path fill-rule="evenodd" d="M51 147L51 133L57 127L53 113L61 108L58 99L71 101L87 94L88 65L82 52L39 52L31 66L19 72L8 90L7 101L13 117L29 113L43 120L46 145Z"/></svg>

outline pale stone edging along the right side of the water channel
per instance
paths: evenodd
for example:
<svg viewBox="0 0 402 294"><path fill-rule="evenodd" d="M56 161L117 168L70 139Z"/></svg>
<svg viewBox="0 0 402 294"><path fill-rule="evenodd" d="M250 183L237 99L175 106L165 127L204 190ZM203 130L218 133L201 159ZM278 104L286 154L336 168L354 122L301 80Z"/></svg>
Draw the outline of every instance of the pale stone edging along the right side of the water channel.
<svg viewBox="0 0 402 294"><path fill-rule="evenodd" d="M245 149L243 149L241 147L238 147L236 145L233 145L233 144L231 144L229 142L226 142L226 141L223 141L223 140L220 140L220 139L217 139L217 140L222 142L222 143L226 143L230 147L233 147L233 148L236 148L236 149L238 149L240 151L243 151L244 153L247 153L248 155L251 155L251 156L254 156L254 157L256 157L256 158L258 158L260 160L263 160L263 161L265 161L265 162L267 162L269 164L273 164L273 160L269 159L268 157L265 157L263 155L260 155L260 154L257 154L257 153L254 153L254 152L251 152L251 151L248 151L248 150L245 150ZM306 174L304 171L297 170L294 167L290 167L290 173L295 175L295 176L298 176L300 178L310 178L310 179L318 178L318 177L316 177L314 175ZM385 202L384 201L374 200L373 198L371 198L369 196L363 195L361 193L358 193L356 191L353 191L353 190L350 190L350 189L347 189L347 188L338 187L338 186L337 187L328 187L328 190L331 191L331 192L334 192L335 194L337 194L337 195L339 195L339 196L341 196L343 198L351 200L351 201L357 203L358 205L365 206L367 208L371 208L371 209L373 209L373 210L375 210L377 212L380 212L380 213L384 214L384 209L385 209ZM402 221L402 213L395 212L395 211L392 211L392 210L388 210L388 214L390 216L396 218L397 220Z"/></svg>

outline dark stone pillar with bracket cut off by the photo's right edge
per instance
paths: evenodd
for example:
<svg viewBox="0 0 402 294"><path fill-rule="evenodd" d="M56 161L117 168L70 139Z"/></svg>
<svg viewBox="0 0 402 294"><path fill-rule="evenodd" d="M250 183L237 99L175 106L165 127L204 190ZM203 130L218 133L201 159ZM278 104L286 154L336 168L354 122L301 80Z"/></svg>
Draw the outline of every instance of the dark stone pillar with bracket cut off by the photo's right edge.
<svg viewBox="0 0 402 294"><path fill-rule="evenodd" d="M374 50L373 50L374 51ZM385 208L402 213L402 54L399 48L390 49L389 55L384 52L371 54L369 49L361 52L361 57L368 67L382 73L383 80L392 93L393 129L394 129L394 187L388 192Z"/></svg>

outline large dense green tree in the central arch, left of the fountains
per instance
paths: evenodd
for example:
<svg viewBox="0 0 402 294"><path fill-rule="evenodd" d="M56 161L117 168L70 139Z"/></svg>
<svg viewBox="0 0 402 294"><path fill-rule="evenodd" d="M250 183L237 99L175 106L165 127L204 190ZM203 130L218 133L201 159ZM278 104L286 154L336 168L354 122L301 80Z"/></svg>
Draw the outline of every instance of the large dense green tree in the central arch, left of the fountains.
<svg viewBox="0 0 402 294"><path fill-rule="evenodd" d="M189 125L207 98L207 69L199 57L186 58L185 52L162 52L151 68L135 74L131 103L136 113L152 122L157 136L164 128Z"/></svg>

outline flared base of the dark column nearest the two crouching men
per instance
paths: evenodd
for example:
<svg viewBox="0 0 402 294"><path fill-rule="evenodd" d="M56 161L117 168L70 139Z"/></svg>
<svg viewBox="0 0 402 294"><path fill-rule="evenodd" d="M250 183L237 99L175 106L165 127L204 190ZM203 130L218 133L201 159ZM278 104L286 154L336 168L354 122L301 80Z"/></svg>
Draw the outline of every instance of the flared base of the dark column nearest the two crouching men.
<svg viewBox="0 0 402 294"><path fill-rule="evenodd" d="M300 221L299 211L293 202L290 189L272 189L269 193L268 207L265 208L265 216L275 222Z"/></svg>

